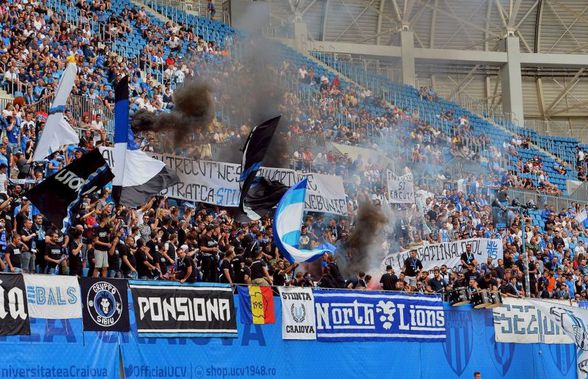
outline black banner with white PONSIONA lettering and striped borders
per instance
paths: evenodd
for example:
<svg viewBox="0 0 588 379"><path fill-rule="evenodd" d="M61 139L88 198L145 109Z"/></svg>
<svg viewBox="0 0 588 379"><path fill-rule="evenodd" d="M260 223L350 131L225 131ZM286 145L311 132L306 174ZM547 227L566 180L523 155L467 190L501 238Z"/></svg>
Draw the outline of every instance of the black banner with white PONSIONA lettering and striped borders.
<svg viewBox="0 0 588 379"><path fill-rule="evenodd" d="M233 289L214 283L129 281L145 337L236 337Z"/></svg>

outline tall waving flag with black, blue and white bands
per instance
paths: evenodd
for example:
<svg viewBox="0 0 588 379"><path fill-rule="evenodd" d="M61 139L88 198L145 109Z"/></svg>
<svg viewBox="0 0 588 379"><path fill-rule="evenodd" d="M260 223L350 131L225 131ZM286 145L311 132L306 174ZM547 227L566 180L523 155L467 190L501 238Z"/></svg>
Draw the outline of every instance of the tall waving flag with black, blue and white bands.
<svg viewBox="0 0 588 379"><path fill-rule="evenodd" d="M138 207L149 197L179 182L165 163L153 159L135 143L129 123L129 81L122 78L115 87L114 180L112 196L117 204Z"/></svg>

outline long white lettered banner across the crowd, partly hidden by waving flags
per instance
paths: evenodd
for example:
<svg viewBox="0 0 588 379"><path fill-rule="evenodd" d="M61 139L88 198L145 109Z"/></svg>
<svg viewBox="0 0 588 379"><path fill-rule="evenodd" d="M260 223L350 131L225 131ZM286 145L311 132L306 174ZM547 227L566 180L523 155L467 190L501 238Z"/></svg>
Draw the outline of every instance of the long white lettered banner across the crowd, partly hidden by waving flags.
<svg viewBox="0 0 588 379"><path fill-rule="evenodd" d="M112 148L101 148L104 159L113 168ZM236 163L194 160L151 153L173 171L180 182L162 192L170 198L214 204L222 207L238 207L239 176L241 165ZM269 180L278 180L291 187L304 177L308 178L306 210L321 213L347 214L347 201L343 179L338 176L302 173L287 168L262 167L259 173Z"/></svg>

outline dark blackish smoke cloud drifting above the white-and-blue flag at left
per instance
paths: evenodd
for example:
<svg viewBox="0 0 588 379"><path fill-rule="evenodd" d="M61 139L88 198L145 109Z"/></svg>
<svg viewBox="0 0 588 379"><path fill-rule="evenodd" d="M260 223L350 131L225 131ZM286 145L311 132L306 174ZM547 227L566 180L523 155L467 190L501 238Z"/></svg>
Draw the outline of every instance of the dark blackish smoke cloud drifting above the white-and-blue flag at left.
<svg viewBox="0 0 588 379"><path fill-rule="evenodd" d="M136 132L171 132L176 146L183 145L194 133L206 133L214 112L210 87L190 80L173 94L174 108L169 113L138 111L131 125Z"/></svg>

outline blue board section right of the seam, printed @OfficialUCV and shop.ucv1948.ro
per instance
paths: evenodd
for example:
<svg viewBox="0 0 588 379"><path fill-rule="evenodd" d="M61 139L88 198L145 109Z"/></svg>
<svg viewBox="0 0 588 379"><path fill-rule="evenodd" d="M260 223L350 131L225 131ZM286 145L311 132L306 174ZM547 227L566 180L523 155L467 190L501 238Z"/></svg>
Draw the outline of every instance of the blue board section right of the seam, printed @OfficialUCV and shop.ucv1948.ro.
<svg viewBox="0 0 588 379"><path fill-rule="evenodd" d="M282 307L276 304L275 311L281 320ZM125 378L371 378L395 372L471 379L475 371L483 378L576 378L573 345L495 343L492 311L471 306L446 306L445 322L445 341L338 343L283 340L279 323L238 322L238 338L140 338L131 325L121 341Z"/></svg>

